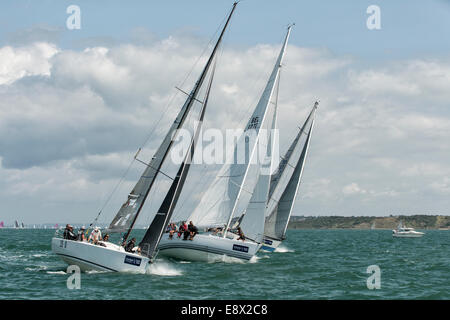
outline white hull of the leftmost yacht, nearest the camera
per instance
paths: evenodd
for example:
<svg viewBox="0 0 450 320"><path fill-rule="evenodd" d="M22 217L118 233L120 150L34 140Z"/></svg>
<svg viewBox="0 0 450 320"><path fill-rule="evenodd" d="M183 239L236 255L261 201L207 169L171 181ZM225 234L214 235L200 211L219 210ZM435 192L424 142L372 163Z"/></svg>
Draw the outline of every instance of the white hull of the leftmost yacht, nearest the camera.
<svg viewBox="0 0 450 320"><path fill-rule="evenodd" d="M52 239L52 251L69 265L77 265L81 271L115 271L145 273L149 259L126 252L122 247L105 242L107 247L88 242Z"/></svg>

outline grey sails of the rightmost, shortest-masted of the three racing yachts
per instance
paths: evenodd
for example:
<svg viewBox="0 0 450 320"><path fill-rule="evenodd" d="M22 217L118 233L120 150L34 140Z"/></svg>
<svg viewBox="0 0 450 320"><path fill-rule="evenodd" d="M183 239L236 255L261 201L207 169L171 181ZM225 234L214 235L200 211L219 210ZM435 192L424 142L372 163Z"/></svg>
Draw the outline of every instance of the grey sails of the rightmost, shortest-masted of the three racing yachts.
<svg viewBox="0 0 450 320"><path fill-rule="evenodd" d="M271 192L269 193L269 196L271 197L269 198L267 207L269 215L266 218L264 228L264 235L269 238L283 240L285 237L287 225L300 186L300 180L314 127L314 113L317 109L317 105L318 103L316 102L313 110L311 110L304 125L300 129L300 132L281 161L277 172L272 176ZM303 134L306 134L305 128L309 122L310 127L306 135L306 141L301 148L299 140ZM299 152L300 150L301 152ZM295 162L296 160L297 162ZM278 197L279 194L280 196Z"/></svg>

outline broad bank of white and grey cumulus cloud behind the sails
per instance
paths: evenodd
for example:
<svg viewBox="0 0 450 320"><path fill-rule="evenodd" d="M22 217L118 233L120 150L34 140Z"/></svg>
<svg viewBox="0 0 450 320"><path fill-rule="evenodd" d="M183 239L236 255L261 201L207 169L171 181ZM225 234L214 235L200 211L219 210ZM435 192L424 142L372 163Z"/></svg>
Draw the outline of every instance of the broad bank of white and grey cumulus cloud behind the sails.
<svg viewBox="0 0 450 320"><path fill-rule="evenodd" d="M30 203L70 198L98 207L149 135L142 157L151 157L185 99L174 86L190 90L204 49L176 36L82 50L46 42L0 48L3 197L27 195ZM278 50L256 45L221 52L205 128L245 124ZM369 199L365 212L386 214L418 194L421 208L444 210L449 71L445 59L373 69L290 45L279 92L280 154L320 99L294 213L357 214L356 203ZM131 188L142 169L134 167L124 186ZM197 169L187 190L206 188L213 177ZM184 196L184 208L201 192Z"/></svg>

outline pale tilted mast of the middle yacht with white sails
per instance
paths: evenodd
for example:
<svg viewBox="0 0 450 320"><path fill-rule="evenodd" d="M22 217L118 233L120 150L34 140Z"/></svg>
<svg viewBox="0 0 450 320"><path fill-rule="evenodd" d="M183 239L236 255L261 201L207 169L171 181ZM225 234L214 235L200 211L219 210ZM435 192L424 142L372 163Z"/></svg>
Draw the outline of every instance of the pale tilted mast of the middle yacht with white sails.
<svg viewBox="0 0 450 320"><path fill-rule="evenodd" d="M265 106L264 106L265 112L264 112L263 119L261 120L261 123L264 121L265 115L266 115L266 113L267 113L267 105L270 103L270 99L271 99L272 94L273 94L273 90L274 90L274 87L275 87L275 83L276 83L276 81L277 81L277 79L278 79L278 76L279 76L279 73L280 73L281 63L282 63L282 61L283 61L283 57L284 57L284 54L285 54L285 52L286 52L286 46L287 46L287 42L288 42L288 39L289 39L289 35L290 35L290 33L291 33L291 28L292 28L292 25L288 26L288 29L287 29L287 32L286 32L286 37L285 37L285 39L284 39L284 43L283 43L283 46L282 46L282 48L281 48L280 54L279 54L279 56L278 56L277 62L276 62L276 64L275 64L275 67L274 67L273 70L272 70L272 74L271 74L271 76L270 76L270 78L269 78L269 81L267 82L266 88L264 89L264 93L266 93L267 91L269 91L270 93L269 93L268 99L267 99L267 101L266 101L266 103L265 103ZM260 102L259 102L259 103L261 103L261 102L263 101L263 99L265 98L264 93L263 93L263 95L261 96L261 99L260 99ZM257 109L258 109L258 107L259 107L259 103L258 103ZM255 110L255 111L256 111L256 110ZM248 130L249 128L251 128L251 126L252 126L252 124L254 123L255 120L256 120L256 122L258 122L259 119L258 119L258 117L254 117L254 116L253 116L253 117L250 119L249 124L247 125L247 129L246 129L246 130ZM257 135L257 140L256 140L256 141L258 141L258 137L259 137L259 130L258 130L258 135ZM252 157L253 157L253 154L254 154L254 152L255 152L255 149L256 149L255 146L256 146L256 143L255 143L255 145L254 145L254 147L253 147L252 155L251 155L251 157L249 158L249 164L250 164L251 159L252 159ZM246 178L247 178L247 175L248 175L248 172L249 172L249 168L250 168L250 165L247 165L246 170L245 170L245 174L244 174L244 178L243 178L242 182L246 181ZM243 188L242 188L243 185L244 185L244 183L241 183L241 184L240 184L240 188L239 188L238 195L237 195L236 200L235 200L235 202L234 202L233 209L231 210L230 216L229 216L229 218L228 218L228 223L227 223L226 228L225 228L225 231L224 231L224 233L223 233L223 237L224 237L224 238L225 238L226 235L227 235L228 228L230 227L231 220L233 219L234 213L235 213L235 211L236 211L237 204L238 204L238 202L239 202L239 199L240 199L240 197L241 197L241 193L242 193L242 190L243 190Z"/></svg>

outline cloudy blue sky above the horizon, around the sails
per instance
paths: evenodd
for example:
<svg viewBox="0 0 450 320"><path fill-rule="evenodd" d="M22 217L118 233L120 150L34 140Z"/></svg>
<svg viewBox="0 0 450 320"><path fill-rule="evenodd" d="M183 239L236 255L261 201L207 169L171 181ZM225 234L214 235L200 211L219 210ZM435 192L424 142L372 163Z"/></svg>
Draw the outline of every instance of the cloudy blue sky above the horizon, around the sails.
<svg viewBox="0 0 450 320"><path fill-rule="evenodd" d="M134 154L151 158L183 103L175 86L190 90L232 3L2 1L0 221L89 223L103 208L108 223L143 170ZM67 27L70 5L80 29ZM380 29L367 27L371 5ZM294 214L448 215L450 1L241 1L207 128L246 123L290 23L281 154L320 100ZM215 170L192 168L176 215Z"/></svg>

